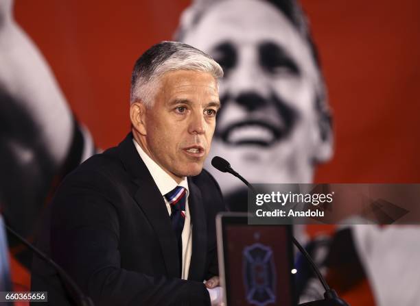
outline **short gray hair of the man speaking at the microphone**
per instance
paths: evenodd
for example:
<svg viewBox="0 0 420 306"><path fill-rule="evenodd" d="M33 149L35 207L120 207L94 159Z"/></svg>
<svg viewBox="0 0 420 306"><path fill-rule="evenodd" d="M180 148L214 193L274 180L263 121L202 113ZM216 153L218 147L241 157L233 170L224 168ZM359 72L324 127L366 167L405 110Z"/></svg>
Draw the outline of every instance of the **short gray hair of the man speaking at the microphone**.
<svg viewBox="0 0 420 306"><path fill-rule="evenodd" d="M150 107L159 79L170 71L210 73L216 81L223 77L220 65L210 55L182 42L163 41L154 44L136 61L132 69L130 103L141 101Z"/></svg>

